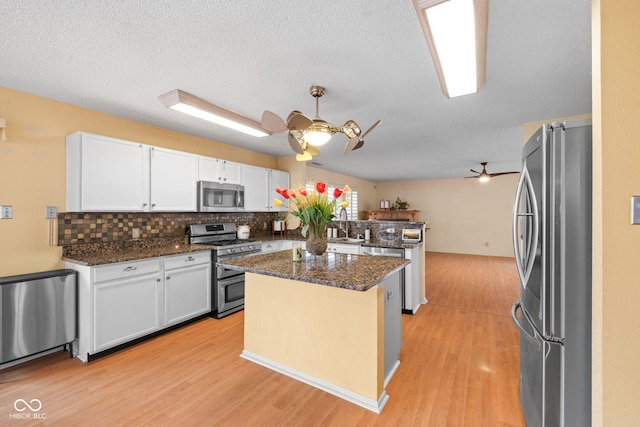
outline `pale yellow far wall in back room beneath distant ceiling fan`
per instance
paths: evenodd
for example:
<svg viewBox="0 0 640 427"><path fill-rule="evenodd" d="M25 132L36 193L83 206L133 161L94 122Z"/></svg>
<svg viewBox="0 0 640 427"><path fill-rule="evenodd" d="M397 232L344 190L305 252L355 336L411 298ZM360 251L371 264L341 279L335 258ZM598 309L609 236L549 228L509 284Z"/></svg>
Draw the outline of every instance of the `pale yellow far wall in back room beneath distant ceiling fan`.
<svg viewBox="0 0 640 427"><path fill-rule="evenodd" d="M519 176L488 183L464 178L379 183L377 197L391 202L400 197L420 211L418 220L429 222L427 251L512 257L511 215Z"/></svg>

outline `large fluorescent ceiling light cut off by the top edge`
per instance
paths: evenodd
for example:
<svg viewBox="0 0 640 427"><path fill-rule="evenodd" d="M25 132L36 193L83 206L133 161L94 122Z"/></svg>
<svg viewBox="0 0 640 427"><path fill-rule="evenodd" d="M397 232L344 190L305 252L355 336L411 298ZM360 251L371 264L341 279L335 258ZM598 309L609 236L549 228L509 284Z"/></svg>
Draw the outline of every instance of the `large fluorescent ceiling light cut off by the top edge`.
<svg viewBox="0 0 640 427"><path fill-rule="evenodd" d="M489 0L413 0L447 98L485 82Z"/></svg>

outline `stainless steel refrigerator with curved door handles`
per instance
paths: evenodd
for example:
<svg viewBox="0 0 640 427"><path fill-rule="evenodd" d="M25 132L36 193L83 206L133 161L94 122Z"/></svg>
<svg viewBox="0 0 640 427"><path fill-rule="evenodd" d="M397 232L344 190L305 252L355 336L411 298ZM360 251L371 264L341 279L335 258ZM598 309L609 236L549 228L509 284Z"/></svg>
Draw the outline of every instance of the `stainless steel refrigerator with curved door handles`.
<svg viewBox="0 0 640 427"><path fill-rule="evenodd" d="M527 427L591 425L591 158L590 119L544 125L523 149L511 315Z"/></svg>

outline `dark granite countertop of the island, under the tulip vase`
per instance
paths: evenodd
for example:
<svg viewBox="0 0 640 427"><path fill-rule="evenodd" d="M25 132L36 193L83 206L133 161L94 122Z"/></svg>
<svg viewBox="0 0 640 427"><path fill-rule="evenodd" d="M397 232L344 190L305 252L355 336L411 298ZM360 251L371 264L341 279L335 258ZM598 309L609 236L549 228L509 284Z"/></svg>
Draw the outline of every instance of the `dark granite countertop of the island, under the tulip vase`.
<svg viewBox="0 0 640 427"><path fill-rule="evenodd" d="M366 291L411 261L393 257L325 253L314 257L305 252L301 261L292 261L290 250L218 262L227 268L299 280L318 285Z"/></svg>

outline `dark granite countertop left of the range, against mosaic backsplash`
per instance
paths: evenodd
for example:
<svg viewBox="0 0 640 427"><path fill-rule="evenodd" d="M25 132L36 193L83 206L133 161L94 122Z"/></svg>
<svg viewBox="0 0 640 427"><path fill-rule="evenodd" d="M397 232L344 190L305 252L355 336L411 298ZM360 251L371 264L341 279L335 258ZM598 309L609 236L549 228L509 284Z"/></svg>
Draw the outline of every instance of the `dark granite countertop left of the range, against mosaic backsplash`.
<svg viewBox="0 0 640 427"><path fill-rule="evenodd" d="M64 246L62 260L79 265L95 266L210 250L209 246L186 244L184 238L143 239Z"/></svg>

